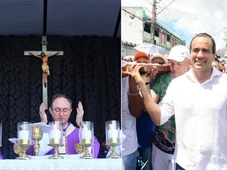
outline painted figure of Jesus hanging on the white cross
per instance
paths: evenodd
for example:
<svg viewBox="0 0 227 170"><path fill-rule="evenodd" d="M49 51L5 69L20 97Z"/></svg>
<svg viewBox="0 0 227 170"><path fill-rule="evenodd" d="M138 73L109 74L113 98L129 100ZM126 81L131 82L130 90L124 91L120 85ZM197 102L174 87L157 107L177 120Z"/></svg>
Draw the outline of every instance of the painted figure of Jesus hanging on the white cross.
<svg viewBox="0 0 227 170"><path fill-rule="evenodd" d="M32 52L29 52L30 55L38 57L38 58L40 58L42 60L43 83L44 83L45 87L47 85L47 77L48 77L48 75L50 75L50 70L49 70L49 66L48 66L48 58L51 57L51 56L55 56L55 55L57 55L59 53L60 52L56 52L54 54L46 55L44 52L41 52L40 55L36 55L36 54L34 54Z"/></svg>

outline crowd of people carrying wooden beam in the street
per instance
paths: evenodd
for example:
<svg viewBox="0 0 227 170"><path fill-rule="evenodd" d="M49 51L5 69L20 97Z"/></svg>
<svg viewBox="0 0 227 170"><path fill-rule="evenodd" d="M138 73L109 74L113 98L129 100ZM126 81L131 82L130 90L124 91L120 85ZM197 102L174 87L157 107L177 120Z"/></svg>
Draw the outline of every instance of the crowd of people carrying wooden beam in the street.
<svg viewBox="0 0 227 170"><path fill-rule="evenodd" d="M133 63L122 62L125 170L227 168L227 75L215 52L214 39L199 33L190 48L176 45L151 57L138 52ZM170 71L151 66L141 73L153 62Z"/></svg>

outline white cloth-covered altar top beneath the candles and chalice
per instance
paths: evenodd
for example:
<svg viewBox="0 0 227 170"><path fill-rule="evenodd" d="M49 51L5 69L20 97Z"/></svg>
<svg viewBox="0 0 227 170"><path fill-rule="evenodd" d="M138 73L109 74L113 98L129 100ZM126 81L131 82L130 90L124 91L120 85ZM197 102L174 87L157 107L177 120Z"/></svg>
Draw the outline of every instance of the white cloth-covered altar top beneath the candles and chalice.
<svg viewBox="0 0 227 170"><path fill-rule="evenodd" d="M49 155L50 156L50 155ZM122 159L80 159L78 155L63 155L64 159L32 156L30 160L2 159L1 170L121 170Z"/></svg>

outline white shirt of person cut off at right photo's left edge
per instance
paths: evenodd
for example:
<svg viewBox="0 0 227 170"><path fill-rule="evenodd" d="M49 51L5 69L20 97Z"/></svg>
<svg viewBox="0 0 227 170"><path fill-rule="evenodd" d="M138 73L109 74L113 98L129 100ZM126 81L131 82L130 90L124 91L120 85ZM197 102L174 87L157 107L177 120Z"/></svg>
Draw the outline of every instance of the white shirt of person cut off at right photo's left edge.
<svg viewBox="0 0 227 170"><path fill-rule="evenodd" d="M123 64L124 61L121 61ZM137 150L136 118L133 117L128 108L128 77L122 78L122 156L129 155Z"/></svg>

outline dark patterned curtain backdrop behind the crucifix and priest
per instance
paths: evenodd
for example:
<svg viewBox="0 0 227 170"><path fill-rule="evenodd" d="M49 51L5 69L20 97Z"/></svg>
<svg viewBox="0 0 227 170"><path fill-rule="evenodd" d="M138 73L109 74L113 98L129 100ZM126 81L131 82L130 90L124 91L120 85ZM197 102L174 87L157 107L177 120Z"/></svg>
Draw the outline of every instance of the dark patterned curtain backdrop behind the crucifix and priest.
<svg viewBox="0 0 227 170"><path fill-rule="evenodd" d="M0 121L3 123L4 158L15 158L9 138L17 137L19 121L39 122L42 102L41 59L24 51L41 51L42 36L0 36ZM48 51L63 51L49 58L48 105L54 94L73 101L70 121L76 125L81 101L84 120L93 121L100 144L105 121L119 120L121 113L120 39L97 36L47 36Z"/></svg>

